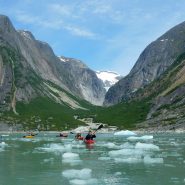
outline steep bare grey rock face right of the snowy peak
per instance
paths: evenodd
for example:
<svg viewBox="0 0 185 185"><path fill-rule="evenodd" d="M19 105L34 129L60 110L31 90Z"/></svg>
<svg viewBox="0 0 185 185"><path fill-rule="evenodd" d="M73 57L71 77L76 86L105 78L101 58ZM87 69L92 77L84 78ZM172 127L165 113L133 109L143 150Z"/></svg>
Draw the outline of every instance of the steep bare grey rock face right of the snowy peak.
<svg viewBox="0 0 185 185"><path fill-rule="evenodd" d="M184 43L185 22L146 47L131 72L109 89L104 104L113 105L127 100L139 88L158 78L185 51Z"/></svg>

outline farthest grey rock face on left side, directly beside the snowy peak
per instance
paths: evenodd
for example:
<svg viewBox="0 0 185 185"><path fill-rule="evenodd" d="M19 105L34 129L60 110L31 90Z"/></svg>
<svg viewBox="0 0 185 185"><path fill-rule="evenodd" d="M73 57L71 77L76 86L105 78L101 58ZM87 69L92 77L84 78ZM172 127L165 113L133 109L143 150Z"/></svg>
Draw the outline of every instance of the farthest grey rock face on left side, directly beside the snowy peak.
<svg viewBox="0 0 185 185"><path fill-rule="evenodd" d="M97 78L95 72L80 60L66 57L59 59L64 84L67 84L70 91L95 105L102 105L106 92L104 84Z"/></svg>

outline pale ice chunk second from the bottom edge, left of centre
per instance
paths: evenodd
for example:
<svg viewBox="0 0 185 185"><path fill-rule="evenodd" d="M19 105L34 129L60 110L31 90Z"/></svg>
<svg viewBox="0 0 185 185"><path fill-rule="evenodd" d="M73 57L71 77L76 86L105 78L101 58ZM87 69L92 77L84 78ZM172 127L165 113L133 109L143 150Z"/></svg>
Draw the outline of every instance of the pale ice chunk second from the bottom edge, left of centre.
<svg viewBox="0 0 185 185"><path fill-rule="evenodd" d="M92 170L89 168L84 168L82 170L65 170L62 172L62 175L68 179L90 179Z"/></svg>

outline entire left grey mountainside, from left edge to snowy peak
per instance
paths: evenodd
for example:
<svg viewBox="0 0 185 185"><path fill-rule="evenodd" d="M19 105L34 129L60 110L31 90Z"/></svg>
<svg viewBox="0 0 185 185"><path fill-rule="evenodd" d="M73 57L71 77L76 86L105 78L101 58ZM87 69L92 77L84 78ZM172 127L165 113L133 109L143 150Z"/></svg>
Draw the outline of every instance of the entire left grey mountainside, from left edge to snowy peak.
<svg viewBox="0 0 185 185"><path fill-rule="evenodd" d="M29 31L15 30L9 18L0 15L0 110L12 108L16 113L17 101L37 96L79 108L70 94L101 105L105 90L81 61L55 56L47 43Z"/></svg>

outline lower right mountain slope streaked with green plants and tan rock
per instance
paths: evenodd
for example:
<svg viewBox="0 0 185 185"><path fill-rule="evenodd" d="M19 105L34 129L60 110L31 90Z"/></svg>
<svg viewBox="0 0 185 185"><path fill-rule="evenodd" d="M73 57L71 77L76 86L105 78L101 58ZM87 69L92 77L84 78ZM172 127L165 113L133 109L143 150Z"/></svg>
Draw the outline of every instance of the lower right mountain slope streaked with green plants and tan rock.
<svg viewBox="0 0 185 185"><path fill-rule="evenodd" d="M159 78L132 95L132 101L150 102L146 120L137 127L185 129L185 52Z"/></svg>

